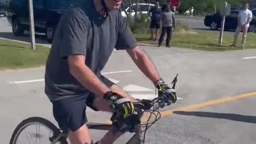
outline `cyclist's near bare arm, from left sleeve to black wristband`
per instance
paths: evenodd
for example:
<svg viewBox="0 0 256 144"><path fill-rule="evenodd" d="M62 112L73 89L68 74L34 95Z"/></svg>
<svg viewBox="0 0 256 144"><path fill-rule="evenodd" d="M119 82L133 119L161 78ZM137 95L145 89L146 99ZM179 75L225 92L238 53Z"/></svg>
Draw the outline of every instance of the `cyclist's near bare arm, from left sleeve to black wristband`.
<svg viewBox="0 0 256 144"><path fill-rule="evenodd" d="M110 91L109 87L103 84L91 69L85 65L84 55L69 56L68 63L71 75L86 87L86 89L96 95L100 95L100 97L103 97L107 91Z"/></svg>

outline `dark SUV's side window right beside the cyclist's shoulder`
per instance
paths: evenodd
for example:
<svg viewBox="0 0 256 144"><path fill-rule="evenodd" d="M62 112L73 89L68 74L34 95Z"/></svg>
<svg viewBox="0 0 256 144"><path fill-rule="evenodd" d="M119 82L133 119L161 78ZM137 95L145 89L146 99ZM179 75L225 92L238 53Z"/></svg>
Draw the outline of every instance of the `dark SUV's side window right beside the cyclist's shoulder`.
<svg viewBox="0 0 256 144"><path fill-rule="evenodd" d="M74 7L75 1L73 0L47 0L47 9L70 9Z"/></svg>

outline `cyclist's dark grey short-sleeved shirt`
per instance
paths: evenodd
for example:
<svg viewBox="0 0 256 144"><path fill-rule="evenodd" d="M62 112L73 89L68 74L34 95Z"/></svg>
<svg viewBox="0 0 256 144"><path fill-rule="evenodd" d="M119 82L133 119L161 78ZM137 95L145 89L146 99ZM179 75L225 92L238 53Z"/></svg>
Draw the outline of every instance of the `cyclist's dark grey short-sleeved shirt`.
<svg viewBox="0 0 256 144"><path fill-rule="evenodd" d="M106 65L114 50L132 49L137 42L125 19L118 11L107 17L95 10L92 0L68 10L59 21L46 62L45 93L50 100L76 97L89 93L69 72L69 55L85 55L85 65L95 75Z"/></svg>

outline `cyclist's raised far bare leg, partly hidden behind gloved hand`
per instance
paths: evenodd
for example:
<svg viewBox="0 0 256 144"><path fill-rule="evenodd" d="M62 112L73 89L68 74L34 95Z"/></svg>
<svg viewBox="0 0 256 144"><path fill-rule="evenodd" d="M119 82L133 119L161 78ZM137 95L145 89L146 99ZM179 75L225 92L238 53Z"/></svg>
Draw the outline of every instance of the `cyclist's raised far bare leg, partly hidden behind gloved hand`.
<svg viewBox="0 0 256 144"><path fill-rule="evenodd" d="M121 94L123 97L129 98L132 102L137 102L137 100L132 98L128 93L126 93L123 89L121 89L121 87L119 87L116 84L111 86L110 89ZM109 102L105 99L94 99L93 107L101 111L111 111L109 108ZM118 132L117 134L114 135L111 131L108 131L100 141L102 144L111 144L114 143L119 137L121 137L122 134L122 132Z"/></svg>

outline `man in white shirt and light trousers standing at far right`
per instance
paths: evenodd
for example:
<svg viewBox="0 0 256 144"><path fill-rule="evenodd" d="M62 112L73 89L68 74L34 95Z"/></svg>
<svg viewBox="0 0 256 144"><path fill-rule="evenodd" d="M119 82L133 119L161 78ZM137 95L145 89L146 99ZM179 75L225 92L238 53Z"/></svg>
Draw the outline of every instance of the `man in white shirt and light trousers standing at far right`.
<svg viewBox="0 0 256 144"><path fill-rule="evenodd" d="M231 46L236 46L237 37L241 30L243 31L242 37L242 47L244 49L244 44L247 36L247 30L250 27L250 22L252 21L252 11L249 10L249 3L244 3L244 9L241 10L238 14L238 23L234 36L234 42Z"/></svg>

